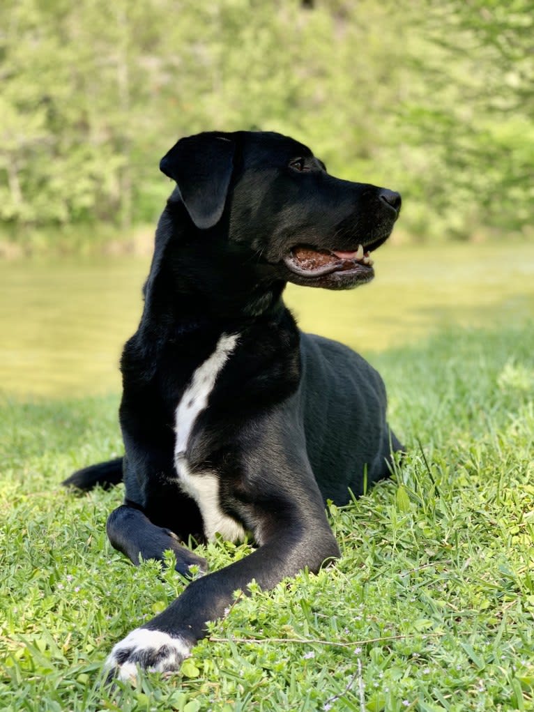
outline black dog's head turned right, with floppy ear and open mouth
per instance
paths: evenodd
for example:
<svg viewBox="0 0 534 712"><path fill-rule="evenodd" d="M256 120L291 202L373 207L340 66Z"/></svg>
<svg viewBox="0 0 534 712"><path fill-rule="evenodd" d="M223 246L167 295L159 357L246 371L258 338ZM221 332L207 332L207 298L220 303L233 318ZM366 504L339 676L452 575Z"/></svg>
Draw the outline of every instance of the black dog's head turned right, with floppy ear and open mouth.
<svg viewBox="0 0 534 712"><path fill-rule="evenodd" d="M370 253L399 216L398 193L330 176L276 133L202 133L162 159L194 230L229 244L262 280L343 289L374 276Z"/></svg>

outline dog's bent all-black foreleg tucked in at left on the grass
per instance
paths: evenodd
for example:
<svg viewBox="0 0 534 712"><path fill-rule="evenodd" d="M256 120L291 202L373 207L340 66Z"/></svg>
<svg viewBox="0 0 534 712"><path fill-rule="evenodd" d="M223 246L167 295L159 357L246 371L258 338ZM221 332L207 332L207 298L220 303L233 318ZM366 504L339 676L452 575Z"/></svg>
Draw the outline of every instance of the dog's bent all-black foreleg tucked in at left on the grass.
<svg viewBox="0 0 534 712"><path fill-rule="evenodd" d="M152 524L139 509L123 504L108 517L106 524L112 546L122 551L136 566L140 559L163 560L163 553L172 549L176 555L176 570L184 576L191 575L190 566L206 571L206 560L179 543L170 529Z"/></svg>

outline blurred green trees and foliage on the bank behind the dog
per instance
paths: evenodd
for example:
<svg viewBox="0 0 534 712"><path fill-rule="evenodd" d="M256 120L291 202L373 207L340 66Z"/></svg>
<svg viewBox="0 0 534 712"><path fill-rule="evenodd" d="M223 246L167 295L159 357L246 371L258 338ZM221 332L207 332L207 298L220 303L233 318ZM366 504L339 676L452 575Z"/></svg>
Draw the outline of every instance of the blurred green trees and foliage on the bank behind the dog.
<svg viewBox="0 0 534 712"><path fill-rule="evenodd" d="M299 137L401 190L404 231L529 223L529 0L6 0L0 219L153 221L157 161L214 127ZM47 242L53 244L53 231Z"/></svg>

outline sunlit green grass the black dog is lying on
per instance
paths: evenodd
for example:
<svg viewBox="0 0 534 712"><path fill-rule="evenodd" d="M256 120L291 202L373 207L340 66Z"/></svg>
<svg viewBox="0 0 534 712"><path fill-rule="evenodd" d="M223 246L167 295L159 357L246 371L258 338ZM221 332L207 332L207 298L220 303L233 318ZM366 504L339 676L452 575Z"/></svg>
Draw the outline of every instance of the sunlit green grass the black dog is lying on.
<svg viewBox="0 0 534 712"><path fill-rule="evenodd" d="M183 586L110 548L122 486L58 486L121 451L117 397L6 400L0 709L533 710L533 327L501 318L372 355L409 454L391 481L330 507L340 562L254 588L180 674L114 695L98 687L110 647ZM203 553L216 569L248 549Z"/></svg>

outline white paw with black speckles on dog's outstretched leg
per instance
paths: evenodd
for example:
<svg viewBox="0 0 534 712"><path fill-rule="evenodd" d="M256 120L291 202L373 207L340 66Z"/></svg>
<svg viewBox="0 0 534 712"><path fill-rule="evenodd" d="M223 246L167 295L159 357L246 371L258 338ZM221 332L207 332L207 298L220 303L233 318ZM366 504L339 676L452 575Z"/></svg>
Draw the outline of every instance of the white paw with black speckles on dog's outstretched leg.
<svg viewBox="0 0 534 712"><path fill-rule="evenodd" d="M173 638L161 630L136 628L113 647L105 661L107 682L114 679L135 682L137 667L150 672L176 671L190 651L191 647L181 637Z"/></svg>

